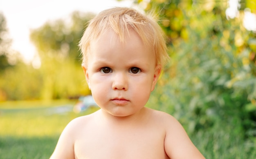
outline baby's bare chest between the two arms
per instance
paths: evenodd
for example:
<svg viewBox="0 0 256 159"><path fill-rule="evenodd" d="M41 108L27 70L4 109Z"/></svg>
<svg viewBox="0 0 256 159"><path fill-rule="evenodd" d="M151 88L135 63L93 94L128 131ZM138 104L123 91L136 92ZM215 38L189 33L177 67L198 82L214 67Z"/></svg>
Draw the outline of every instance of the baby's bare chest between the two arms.
<svg viewBox="0 0 256 159"><path fill-rule="evenodd" d="M77 159L168 158L161 130L92 130L79 136L74 142Z"/></svg>

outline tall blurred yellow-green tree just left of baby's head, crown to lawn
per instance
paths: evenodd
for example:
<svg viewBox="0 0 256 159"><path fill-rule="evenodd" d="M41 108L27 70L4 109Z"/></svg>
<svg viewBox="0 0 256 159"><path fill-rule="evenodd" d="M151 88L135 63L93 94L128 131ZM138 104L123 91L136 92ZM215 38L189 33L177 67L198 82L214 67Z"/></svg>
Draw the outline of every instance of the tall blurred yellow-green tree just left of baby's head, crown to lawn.
<svg viewBox="0 0 256 159"><path fill-rule="evenodd" d="M41 60L39 71L43 79L43 99L90 93L81 69L77 44L86 22L93 16L91 13L74 12L70 19L47 22L31 31L31 41L35 44Z"/></svg>

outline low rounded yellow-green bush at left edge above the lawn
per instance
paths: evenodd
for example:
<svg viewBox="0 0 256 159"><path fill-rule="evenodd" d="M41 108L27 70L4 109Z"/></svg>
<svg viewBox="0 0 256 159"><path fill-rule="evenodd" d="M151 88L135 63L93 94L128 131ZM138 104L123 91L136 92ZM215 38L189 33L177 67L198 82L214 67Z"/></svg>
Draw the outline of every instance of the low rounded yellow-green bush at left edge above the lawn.
<svg viewBox="0 0 256 159"><path fill-rule="evenodd" d="M0 77L0 101L38 99L42 80L38 78L36 71L22 62L7 68Z"/></svg>

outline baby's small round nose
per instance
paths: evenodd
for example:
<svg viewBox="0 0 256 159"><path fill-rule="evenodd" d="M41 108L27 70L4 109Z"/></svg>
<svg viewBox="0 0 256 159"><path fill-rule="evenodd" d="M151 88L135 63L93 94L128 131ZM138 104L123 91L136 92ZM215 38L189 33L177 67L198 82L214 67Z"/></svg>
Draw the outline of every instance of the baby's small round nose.
<svg viewBox="0 0 256 159"><path fill-rule="evenodd" d="M115 73L112 80L113 90L124 90L128 89L128 77L125 73Z"/></svg>

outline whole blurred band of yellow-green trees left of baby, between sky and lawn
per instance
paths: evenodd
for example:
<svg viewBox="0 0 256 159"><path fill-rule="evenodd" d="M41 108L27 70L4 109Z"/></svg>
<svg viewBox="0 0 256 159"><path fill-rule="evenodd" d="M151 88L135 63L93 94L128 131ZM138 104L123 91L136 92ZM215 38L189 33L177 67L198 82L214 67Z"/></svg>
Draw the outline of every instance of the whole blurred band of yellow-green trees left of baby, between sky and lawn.
<svg viewBox="0 0 256 159"><path fill-rule="evenodd" d="M0 101L51 100L90 94L77 44L85 23L92 16L74 12L70 19L47 22L32 30L31 40L38 50L39 63L34 60L32 64L25 64L18 60L10 65L7 56L10 53L0 52ZM4 26L3 19L0 26L2 31L5 31ZM18 58L17 55L13 56Z"/></svg>

